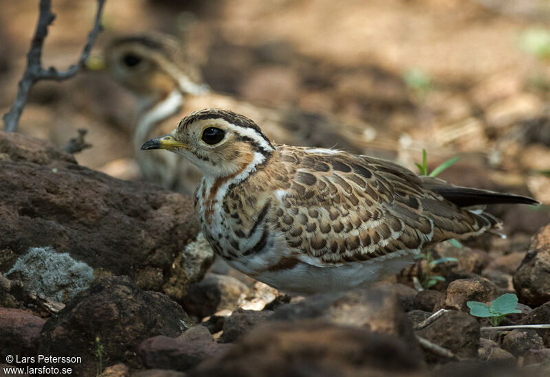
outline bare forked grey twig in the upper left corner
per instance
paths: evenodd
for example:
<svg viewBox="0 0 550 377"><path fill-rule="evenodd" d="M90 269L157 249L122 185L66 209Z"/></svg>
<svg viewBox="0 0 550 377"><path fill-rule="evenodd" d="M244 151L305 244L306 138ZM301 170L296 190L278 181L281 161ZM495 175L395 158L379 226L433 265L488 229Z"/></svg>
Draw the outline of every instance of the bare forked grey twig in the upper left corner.
<svg viewBox="0 0 550 377"><path fill-rule="evenodd" d="M28 93L37 81L67 80L75 76L78 70L83 67L86 59L90 55L91 47L96 43L96 38L102 30L100 21L104 2L105 0L98 0L98 11L96 12L94 28L88 34L88 41L84 46L80 59L66 71L58 71L54 67L48 69L42 67L42 47L47 36L47 29L56 18L56 15L52 13L51 0L40 0L39 21L36 25L34 36L32 37L29 53L27 54L27 67L25 68L25 73L23 73L23 78L19 81L19 89L14 104L12 108L10 108L10 111L3 116L4 130L6 132L14 132L17 130L17 124L19 124L19 118L21 117L21 113L23 113L23 107L25 107L27 103Z"/></svg>

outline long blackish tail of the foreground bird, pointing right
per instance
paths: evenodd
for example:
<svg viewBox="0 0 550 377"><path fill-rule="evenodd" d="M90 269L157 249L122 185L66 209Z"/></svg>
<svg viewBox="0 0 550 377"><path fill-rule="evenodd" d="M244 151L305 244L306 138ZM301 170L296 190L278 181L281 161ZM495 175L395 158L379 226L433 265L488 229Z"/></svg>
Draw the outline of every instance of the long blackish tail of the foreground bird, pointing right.
<svg viewBox="0 0 550 377"><path fill-rule="evenodd" d="M437 192L448 201L459 207L471 207L483 204L528 204L540 205L540 202L527 196L504 194L489 190L480 190L470 187L454 186L442 179L422 176L422 185L428 190Z"/></svg>

